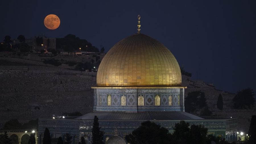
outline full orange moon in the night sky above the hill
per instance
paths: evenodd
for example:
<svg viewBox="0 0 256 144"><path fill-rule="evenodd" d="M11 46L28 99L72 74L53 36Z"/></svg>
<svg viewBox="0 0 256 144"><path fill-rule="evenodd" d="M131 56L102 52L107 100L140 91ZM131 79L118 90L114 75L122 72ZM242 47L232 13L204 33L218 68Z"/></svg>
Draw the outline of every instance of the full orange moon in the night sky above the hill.
<svg viewBox="0 0 256 144"><path fill-rule="evenodd" d="M55 14L49 14L44 18L44 25L46 28L50 30L55 30L56 28L59 27L60 20L59 17L56 16Z"/></svg>

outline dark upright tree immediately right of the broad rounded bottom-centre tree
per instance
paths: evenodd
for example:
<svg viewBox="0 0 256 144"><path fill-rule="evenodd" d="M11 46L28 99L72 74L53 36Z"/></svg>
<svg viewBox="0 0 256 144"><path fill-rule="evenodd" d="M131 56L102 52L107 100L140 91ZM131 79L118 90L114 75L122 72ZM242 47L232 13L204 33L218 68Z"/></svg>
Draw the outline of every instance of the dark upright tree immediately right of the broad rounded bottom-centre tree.
<svg viewBox="0 0 256 144"><path fill-rule="evenodd" d="M174 126L173 137L175 139L175 143L188 143L189 135L189 123L181 120L179 123Z"/></svg>

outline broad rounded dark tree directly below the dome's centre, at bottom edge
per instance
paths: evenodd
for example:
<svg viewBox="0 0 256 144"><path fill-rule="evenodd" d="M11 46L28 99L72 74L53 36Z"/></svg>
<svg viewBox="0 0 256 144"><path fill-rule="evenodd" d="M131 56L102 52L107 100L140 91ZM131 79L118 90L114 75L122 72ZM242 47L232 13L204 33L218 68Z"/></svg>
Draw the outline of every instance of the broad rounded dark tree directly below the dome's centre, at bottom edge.
<svg viewBox="0 0 256 144"><path fill-rule="evenodd" d="M145 121L141 126L135 129L132 134L126 135L125 139L128 143L171 143L172 135L169 131L160 125Z"/></svg>

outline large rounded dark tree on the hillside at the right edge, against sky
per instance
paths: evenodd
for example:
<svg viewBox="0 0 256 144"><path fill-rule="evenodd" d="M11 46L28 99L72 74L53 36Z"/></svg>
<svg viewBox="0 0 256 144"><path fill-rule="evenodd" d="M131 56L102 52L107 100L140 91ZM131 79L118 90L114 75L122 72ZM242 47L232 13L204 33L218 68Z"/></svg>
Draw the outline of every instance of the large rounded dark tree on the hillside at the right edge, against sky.
<svg viewBox="0 0 256 144"><path fill-rule="evenodd" d="M251 88L238 91L236 96L233 98L234 108L245 109L254 107L254 95L253 89Z"/></svg>

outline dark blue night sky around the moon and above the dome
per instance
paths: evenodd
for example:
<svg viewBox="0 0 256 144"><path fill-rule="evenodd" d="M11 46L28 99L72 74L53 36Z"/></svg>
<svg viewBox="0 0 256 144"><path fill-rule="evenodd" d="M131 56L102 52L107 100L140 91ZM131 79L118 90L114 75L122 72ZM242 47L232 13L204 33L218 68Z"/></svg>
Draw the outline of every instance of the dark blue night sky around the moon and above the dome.
<svg viewBox="0 0 256 144"><path fill-rule="evenodd" d="M137 32L163 43L192 79L235 93L256 90L256 1L1 1L0 41L74 34L108 51ZM59 28L44 18L56 14Z"/></svg>

